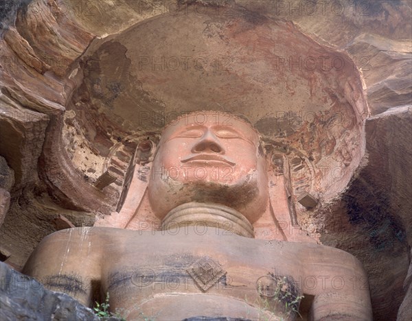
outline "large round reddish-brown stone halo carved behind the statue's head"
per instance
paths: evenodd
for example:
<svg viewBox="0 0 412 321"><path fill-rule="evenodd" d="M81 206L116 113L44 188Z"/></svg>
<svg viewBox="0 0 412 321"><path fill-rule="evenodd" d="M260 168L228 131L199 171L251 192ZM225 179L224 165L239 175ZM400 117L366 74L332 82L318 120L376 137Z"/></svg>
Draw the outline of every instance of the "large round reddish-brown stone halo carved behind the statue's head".
<svg viewBox="0 0 412 321"><path fill-rule="evenodd" d="M209 9L158 16L96 38L73 67L77 88L65 128L82 128L76 139L85 151L73 166L94 154L103 166L93 175L115 171L111 186L121 195L98 225L160 228L145 194L151 160L136 166L137 145L156 144L165 125L185 112L215 110L224 117L244 115L264 142L268 188L279 198L274 215L282 223L276 232L263 220L255 222L255 237L306 237L298 228L301 219L345 189L365 151L368 108L358 71L345 54L290 23L251 18L236 5L231 15ZM127 143L134 145L125 150ZM282 159L280 171L272 155ZM302 193L318 205L301 206ZM273 222L271 214L266 219Z"/></svg>

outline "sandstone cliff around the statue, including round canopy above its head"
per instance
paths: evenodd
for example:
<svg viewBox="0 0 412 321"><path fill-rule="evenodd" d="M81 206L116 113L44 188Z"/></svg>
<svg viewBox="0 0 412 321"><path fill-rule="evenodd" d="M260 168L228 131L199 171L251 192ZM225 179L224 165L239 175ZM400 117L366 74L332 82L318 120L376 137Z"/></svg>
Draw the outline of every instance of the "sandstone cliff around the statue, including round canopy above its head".
<svg viewBox="0 0 412 321"><path fill-rule="evenodd" d="M137 145L179 112L236 112L274 166L288 159L301 227L360 259L374 318L396 319L411 295L409 1L2 5L2 260L19 269L54 230L119 211Z"/></svg>

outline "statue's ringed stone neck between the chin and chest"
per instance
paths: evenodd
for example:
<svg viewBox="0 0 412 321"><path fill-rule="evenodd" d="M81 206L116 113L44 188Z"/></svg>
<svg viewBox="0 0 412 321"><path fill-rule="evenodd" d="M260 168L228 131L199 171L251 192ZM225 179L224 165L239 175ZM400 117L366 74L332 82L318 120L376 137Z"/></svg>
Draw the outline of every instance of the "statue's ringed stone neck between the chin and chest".
<svg viewBox="0 0 412 321"><path fill-rule="evenodd" d="M246 217L228 206L214 203L189 202L168 213L161 224L162 230L177 226L211 227L227 230L243 237L254 237L253 226Z"/></svg>

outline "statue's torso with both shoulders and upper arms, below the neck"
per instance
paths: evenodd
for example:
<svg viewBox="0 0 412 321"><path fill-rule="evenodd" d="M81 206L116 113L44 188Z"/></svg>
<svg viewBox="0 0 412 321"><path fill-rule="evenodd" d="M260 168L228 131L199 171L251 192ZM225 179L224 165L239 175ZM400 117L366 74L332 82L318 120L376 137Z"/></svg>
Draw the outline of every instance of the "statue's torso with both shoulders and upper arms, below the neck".
<svg viewBox="0 0 412 321"><path fill-rule="evenodd" d="M327 302L325 309L333 305L333 311L347 311L350 306L358 309L354 315L369 316L363 309L369 304L368 292L353 283L365 274L350 254L313 243L240 237L216 228L197 233L193 228L179 233L118 228L84 233L72 228L44 239L25 269L60 292L67 292L62 281L79 278L82 282L70 283L68 292L87 305L100 283L102 294L110 295L111 309L124 309L123 316L130 320L276 320L268 311L292 320L301 291L309 298L319 295L320 313ZM350 301L340 305L345 300ZM290 316L282 314L285 307Z"/></svg>

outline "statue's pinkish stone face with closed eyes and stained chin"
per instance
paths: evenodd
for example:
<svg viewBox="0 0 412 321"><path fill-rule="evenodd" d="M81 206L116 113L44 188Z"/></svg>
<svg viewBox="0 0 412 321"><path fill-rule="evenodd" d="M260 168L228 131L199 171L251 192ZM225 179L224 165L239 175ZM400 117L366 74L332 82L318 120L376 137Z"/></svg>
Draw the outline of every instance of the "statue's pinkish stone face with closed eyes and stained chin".
<svg viewBox="0 0 412 321"><path fill-rule="evenodd" d="M148 185L163 219L185 202L212 202L255 222L266 209L266 163L259 136L245 121L213 112L185 115L161 136Z"/></svg>

